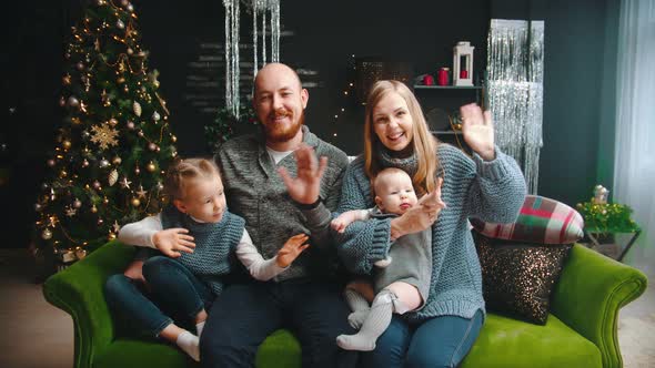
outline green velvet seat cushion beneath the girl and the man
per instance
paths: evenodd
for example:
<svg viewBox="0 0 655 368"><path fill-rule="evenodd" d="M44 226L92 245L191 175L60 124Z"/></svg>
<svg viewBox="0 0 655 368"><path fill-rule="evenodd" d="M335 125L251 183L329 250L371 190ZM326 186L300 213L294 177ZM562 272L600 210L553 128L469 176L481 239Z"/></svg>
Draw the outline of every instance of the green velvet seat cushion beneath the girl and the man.
<svg viewBox="0 0 655 368"><path fill-rule="evenodd" d="M201 357L202 359L202 357ZM299 367L301 366L300 344L288 330L278 330L260 346L255 367ZM93 368L173 368L200 367L188 355L173 345L157 340L118 339L102 351Z"/></svg>

